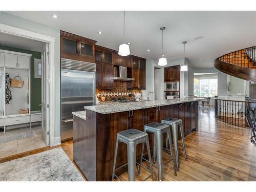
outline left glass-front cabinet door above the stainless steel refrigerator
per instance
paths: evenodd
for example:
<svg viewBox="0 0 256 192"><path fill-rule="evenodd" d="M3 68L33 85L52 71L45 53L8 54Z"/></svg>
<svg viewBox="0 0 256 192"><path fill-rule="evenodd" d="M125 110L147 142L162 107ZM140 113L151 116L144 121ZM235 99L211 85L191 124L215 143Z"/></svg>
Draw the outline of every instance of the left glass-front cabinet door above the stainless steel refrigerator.
<svg viewBox="0 0 256 192"><path fill-rule="evenodd" d="M78 55L78 41L68 37L61 38L62 44L62 52L69 54L77 54Z"/></svg>

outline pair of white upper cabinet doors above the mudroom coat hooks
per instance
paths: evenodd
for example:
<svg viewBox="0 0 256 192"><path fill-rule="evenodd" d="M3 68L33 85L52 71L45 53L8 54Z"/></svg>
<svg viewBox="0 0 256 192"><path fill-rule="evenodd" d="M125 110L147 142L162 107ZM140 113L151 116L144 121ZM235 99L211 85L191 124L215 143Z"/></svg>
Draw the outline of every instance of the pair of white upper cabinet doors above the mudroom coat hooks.
<svg viewBox="0 0 256 192"><path fill-rule="evenodd" d="M29 69L29 56L5 53L5 67Z"/></svg>

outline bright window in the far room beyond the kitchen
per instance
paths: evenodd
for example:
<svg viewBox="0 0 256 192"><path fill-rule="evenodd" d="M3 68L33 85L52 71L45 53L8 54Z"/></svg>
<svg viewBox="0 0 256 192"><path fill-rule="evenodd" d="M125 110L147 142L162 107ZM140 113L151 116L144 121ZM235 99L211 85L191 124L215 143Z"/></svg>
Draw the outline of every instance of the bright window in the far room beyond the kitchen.
<svg viewBox="0 0 256 192"><path fill-rule="evenodd" d="M195 73L194 95L198 97L214 97L218 94L217 73Z"/></svg>

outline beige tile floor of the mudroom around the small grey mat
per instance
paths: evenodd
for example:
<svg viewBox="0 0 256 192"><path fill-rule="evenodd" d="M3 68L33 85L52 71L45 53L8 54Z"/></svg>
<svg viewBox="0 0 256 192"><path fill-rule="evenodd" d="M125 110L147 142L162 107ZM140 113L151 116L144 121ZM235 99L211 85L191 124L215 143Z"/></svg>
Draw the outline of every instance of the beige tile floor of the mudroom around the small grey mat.
<svg viewBox="0 0 256 192"><path fill-rule="evenodd" d="M24 132L27 130L29 130L29 128L24 127L24 128L8 131L6 133L0 133L0 135L14 134L17 132ZM0 158L16 155L23 152L28 152L28 151L46 146L45 141L42 140L42 137L41 137L41 126L40 125L31 126L31 131L33 131L33 137L31 138L19 139L15 141L9 141L6 143L0 143Z"/></svg>

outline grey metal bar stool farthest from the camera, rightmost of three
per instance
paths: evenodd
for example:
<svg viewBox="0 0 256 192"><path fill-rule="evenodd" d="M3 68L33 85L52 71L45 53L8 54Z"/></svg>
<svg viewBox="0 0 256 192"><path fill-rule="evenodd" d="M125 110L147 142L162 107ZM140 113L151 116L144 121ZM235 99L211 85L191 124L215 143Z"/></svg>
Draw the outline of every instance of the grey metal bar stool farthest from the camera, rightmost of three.
<svg viewBox="0 0 256 192"><path fill-rule="evenodd" d="M178 143L178 140L179 140L179 138L178 138L178 126L180 127L180 134L181 134L181 140L182 140L182 149L184 151L185 160L187 161L187 153L186 153L186 148L185 148L185 140L184 140L182 120L167 117L167 118L162 119L161 123L172 126L173 138L174 138L174 150L175 150L175 157L176 157L175 159L176 159L177 170L179 171L180 166L179 166L179 147L178 147L178 144L179 144ZM166 147L167 146L168 146L168 141L166 140Z"/></svg>

